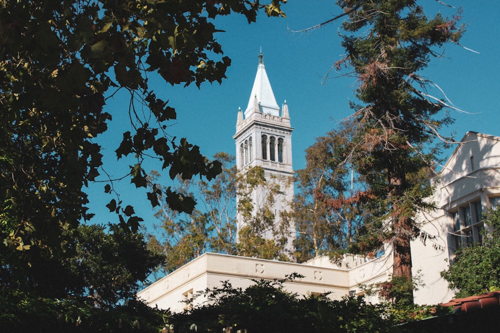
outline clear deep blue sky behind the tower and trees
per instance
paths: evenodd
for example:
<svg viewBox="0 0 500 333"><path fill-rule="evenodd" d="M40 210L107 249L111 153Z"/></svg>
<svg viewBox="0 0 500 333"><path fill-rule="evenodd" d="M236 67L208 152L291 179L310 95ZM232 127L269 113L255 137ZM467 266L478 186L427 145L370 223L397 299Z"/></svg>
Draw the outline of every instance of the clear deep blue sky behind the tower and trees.
<svg viewBox="0 0 500 333"><path fill-rule="evenodd" d="M466 131L500 135L498 129L498 97L500 96L500 14L498 0L446 0L463 8L462 22L467 25L460 43L474 50L458 45L446 45L444 57L431 60L423 72L446 93L455 106L465 112L452 111L455 123L444 129L444 134L456 132L460 139ZM441 11L451 16L456 8L448 8L434 0L422 0L428 16ZM232 135L235 131L236 112L248 103L253 79L257 70L259 49L264 54L264 64L278 105L284 100L288 104L292 133L293 167L304 167L304 150L314 139L334 129L336 124L351 114L349 100L355 100L353 90L355 78L337 77L330 74L323 77L331 65L341 58L340 21L329 23L309 32L293 33L323 22L340 13L334 1L289 0L282 6L286 18L268 18L263 12L257 22L247 24L244 17L229 15L217 19L215 25L226 32L216 37L222 45L224 55L232 60L225 79L218 83L202 84L198 90L193 84L183 88L172 87L156 76L149 77L150 87L158 97L168 99L169 105L177 111L177 120L171 122L169 134L177 138L187 137L192 144L200 146L201 153L212 156L224 151L234 154ZM217 25L218 24L218 25ZM477 53L476 53L477 52ZM439 96L435 89L431 93ZM441 96L439 96L441 97ZM98 138L104 150L106 172L114 177L123 175L127 161L116 163L114 150L119 145L122 132L128 130L128 99L116 95L108 100L106 111L113 115L109 131ZM447 152L448 154L450 152ZM132 163L132 162L130 162ZM159 169L160 164L151 164ZM165 183L168 176L165 172ZM89 190L91 212L96 214L95 223L115 221L103 207L111 196L103 194L103 184L94 184ZM152 217L149 202L144 191L135 191L129 179L115 184L124 204L132 204L138 216L149 228L157 223Z"/></svg>

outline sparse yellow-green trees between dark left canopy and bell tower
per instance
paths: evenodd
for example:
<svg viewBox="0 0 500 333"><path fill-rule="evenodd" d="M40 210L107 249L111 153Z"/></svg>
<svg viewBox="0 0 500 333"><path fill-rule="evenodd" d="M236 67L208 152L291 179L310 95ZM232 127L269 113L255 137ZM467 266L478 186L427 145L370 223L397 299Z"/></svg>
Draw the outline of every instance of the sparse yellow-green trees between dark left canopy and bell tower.
<svg viewBox="0 0 500 333"><path fill-rule="evenodd" d="M155 217L160 224L155 234L148 236L148 246L166 260L158 271L167 274L205 252L235 254L236 240L236 181L234 156L217 153L222 172L212 181L177 178L175 191L196 196L199 209L191 214L179 213L158 197ZM159 174L150 174L151 183L161 183ZM160 185L158 188L161 189ZM162 191L163 193L163 191Z"/></svg>

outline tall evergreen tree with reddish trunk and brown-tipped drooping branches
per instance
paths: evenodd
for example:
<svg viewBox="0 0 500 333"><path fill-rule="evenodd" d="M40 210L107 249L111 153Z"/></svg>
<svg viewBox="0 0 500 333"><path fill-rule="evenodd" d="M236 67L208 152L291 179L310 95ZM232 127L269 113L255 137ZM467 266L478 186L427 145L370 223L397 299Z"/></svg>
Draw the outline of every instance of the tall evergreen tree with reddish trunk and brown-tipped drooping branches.
<svg viewBox="0 0 500 333"><path fill-rule="evenodd" d="M346 55L336 66L352 67L360 101L351 104L352 120L359 123L351 162L376 198L373 220L366 221L358 242L388 243L393 277L411 281L410 242L422 236L415 214L432 209L425 199L432 193L437 133L452 121L447 113L438 116L447 104L427 93L432 82L420 72L431 57L441 56L440 47L458 41L463 27L457 26L458 15L427 17L415 0L337 3L346 17ZM412 303L408 289L405 298Z"/></svg>

